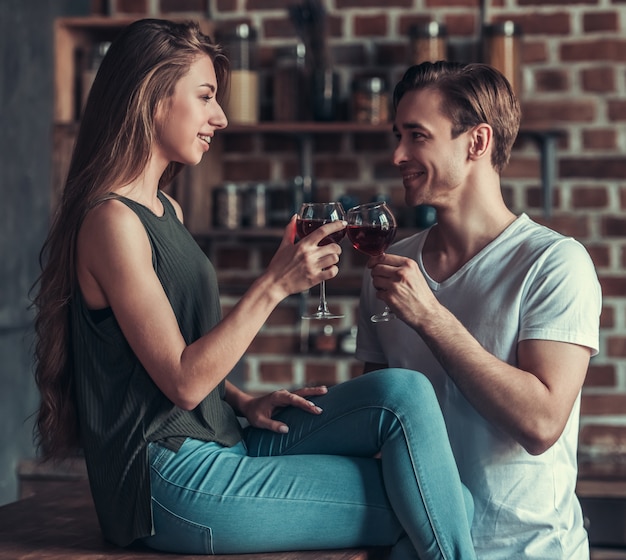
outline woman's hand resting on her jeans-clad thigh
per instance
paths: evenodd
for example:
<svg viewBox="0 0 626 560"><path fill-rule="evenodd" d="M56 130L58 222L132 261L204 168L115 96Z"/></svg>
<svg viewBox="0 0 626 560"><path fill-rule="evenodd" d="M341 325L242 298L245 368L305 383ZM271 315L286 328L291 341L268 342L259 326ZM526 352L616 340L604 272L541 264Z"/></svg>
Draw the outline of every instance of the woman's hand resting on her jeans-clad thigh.
<svg viewBox="0 0 626 560"><path fill-rule="evenodd" d="M328 389L324 386L305 387L296 391L281 389L280 391L274 391L262 397L248 400L245 404L242 404L240 412L255 428L286 434L289 431L289 426L274 420L272 418L274 414L287 406L295 406L311 414L321 414L322 409L307 397L324 395L327 392Z"/></svg>

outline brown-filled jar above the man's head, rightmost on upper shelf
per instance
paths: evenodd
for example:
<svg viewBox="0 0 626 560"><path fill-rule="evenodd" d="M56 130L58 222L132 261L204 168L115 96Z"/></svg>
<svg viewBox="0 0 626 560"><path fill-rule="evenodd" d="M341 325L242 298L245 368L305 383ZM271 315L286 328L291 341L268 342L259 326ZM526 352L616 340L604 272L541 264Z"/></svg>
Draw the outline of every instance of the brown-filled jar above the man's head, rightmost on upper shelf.
<svg viewBox="0 0 626 560"><path fill-rule="evenodd" d="M486 25L484 60L502 72L516 95L521 91L521 27L513 21Z"/></svg>

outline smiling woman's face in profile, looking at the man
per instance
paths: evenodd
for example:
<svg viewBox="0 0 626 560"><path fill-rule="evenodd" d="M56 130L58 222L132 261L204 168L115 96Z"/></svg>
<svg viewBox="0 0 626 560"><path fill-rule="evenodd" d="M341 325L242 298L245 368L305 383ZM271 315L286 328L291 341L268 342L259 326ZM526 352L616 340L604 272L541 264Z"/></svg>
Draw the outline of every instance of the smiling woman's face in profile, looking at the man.
<svg viewBox="0 0 626 560"><path fill-rule="evenodd" d="M196 165L209 150L215 131L228 124L217 102L213 61L199 55L174 88L171 98L156 112L156 140L152 156L170 162Z"/></svg>

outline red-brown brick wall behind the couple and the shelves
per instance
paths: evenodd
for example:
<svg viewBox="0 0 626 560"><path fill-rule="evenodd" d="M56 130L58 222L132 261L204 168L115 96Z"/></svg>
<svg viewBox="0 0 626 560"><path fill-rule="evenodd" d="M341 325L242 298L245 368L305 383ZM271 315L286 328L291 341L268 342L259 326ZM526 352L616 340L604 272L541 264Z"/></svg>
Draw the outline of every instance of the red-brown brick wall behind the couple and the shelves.
<svg viewBox="0 0 626 560"><path fill-rule="evenodd" d="M208 2L208 3L207 3ZM112 13L209 14L219 25L246 21L259 32L262 75L269 82L275 49L293 42L286 7L295 0L117 0ZM557 154L558 180L552 216L541 211L540 164L536 145L518 141L503 189L511 209L579 239L596 264L604 294L601 350L585 383L581 450L626 453L626 1L624 0L326 0L330 36L342 93L353 76L376 72L393 84L408 60L408 28L437 20L448 28L449 58L468 60L479 52L481 21L511 19L522 26L521 101L524 124L563 130ZM102 2L93 2L94 10ZM269 106L263 88L264 115ZM299 173L297 143L281 135L232 134L223 138L223 178L288 182ZM314 176L319 198L345 193L364 200L389 197L398 212L401 186L390 165L386 133L318 135ZM411 216L403 214L406 223ZM276 240L214 241L214 258L224 305L236 301L267 263ZM363 259L345 247L338 278L329 282L331 306L354 324ZM314 302L313 291L309 304ZM251 390L285 385L333 383L357 375L350 355L314 352L308 329L321 325L298 319L303 298L281 305L244 361ZM326 341L326 339L324 339Z"/></svg>

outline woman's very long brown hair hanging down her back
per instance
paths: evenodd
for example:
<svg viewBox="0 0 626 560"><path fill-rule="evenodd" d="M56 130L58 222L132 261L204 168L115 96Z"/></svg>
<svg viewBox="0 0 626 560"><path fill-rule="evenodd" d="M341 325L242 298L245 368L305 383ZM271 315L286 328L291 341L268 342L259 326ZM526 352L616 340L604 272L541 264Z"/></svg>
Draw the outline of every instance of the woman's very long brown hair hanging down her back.
<svg viewBox="0 0 626 560"><path fill-rule="evenodd" d="M155 134L159 102L201 54L211 57L220 91L228 61L194 22L143 19L125 28L111 45L93 83L59 207L40 254L35 288L35 347L41 402L35 441L44 458L80 447L74 400L70 311L76 293L76 238L87 212L143 171ZM167 185L182 169L170 163L160 179Z"/></svg>

